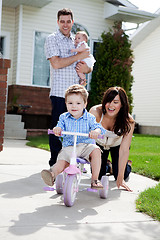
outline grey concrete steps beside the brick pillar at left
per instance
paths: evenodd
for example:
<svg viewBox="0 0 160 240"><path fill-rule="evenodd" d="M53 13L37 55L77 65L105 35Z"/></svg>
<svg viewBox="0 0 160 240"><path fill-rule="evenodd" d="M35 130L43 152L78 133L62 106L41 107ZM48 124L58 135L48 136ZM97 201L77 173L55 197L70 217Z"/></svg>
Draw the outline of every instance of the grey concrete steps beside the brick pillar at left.
<svg viewBox="0 0 160 240"><path fill-rule="evenodd" d="M21 122L21 115L6 114L4 138L26 139L27 130L24 129L24 122Z"/></svg>

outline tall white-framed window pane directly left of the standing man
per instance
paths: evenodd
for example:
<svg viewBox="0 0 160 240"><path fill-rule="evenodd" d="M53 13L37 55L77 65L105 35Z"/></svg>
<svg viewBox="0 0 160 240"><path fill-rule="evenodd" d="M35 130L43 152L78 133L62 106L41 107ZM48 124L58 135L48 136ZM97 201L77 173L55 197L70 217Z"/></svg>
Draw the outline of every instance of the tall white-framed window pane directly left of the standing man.
<svg viewBox="0 0 160 240"><path fill-rule="evenodd" d="M44 43L49 33L35 32L33 85L49 86L49 61L44 53Z"/></svg>

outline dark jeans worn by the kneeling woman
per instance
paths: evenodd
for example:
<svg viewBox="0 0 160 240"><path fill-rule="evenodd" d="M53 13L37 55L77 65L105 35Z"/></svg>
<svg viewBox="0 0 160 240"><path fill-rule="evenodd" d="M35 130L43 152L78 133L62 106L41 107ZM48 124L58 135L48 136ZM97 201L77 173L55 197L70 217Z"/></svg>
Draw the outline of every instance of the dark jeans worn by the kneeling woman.
<svg viewBox="0 0 160 240"><path fill-rule="evenodd" d="M109 152L111 154L111 158L112 158L112 171L113 171L113 176L115 178L115 180L117 180L117 176L118 176L118 160L119 160L119 146L116 147L111 147L109 150L105 150L102 146L100 146L99 144L97 144L101 150L101 169L100 169L100 173L99 173L99 177L98 179L100 180L101 177L103 175L106 175L106 169L107 169L107 159L108 159L108 155ZM124 179L126 179L129 174L131 172L131 166L128 165L128 163L126 164L126 168L125 168L125 172L124 172Z"/></svg>

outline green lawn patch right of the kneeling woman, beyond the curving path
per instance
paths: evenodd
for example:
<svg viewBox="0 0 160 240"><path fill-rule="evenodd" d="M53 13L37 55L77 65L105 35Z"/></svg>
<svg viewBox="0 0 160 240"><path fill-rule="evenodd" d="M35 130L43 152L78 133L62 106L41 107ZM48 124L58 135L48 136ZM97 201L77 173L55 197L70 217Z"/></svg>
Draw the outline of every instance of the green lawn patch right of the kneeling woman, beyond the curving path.
<svg viewBox="0 0 160 240"><path fill-rule="evenodd" d="M132 172L160 180L160 137L135 134L129 154Z"/></svg>

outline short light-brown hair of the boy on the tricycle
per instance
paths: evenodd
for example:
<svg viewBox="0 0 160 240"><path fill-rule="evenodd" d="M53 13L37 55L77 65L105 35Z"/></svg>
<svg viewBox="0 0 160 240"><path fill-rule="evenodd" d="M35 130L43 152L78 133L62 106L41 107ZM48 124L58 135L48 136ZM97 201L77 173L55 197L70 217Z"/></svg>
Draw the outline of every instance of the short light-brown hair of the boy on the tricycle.
<svg viewBox="0 0 160 240"><path fill-rule="evenodd" d="M65 101L67 101L67 97L71 94L80 94L83 98L84 103L87 103L87 99L88 99L88 92L85 89L85 87L83 87L80 84L74 84L72 86L70 86L66 91L65 91Z"/></svg>

